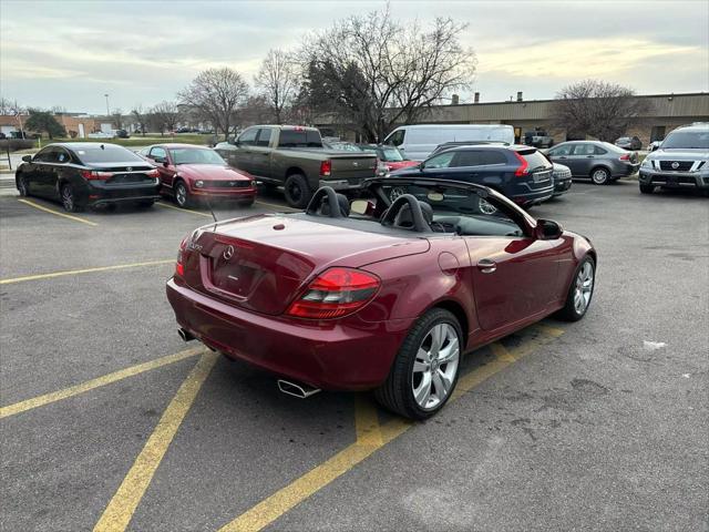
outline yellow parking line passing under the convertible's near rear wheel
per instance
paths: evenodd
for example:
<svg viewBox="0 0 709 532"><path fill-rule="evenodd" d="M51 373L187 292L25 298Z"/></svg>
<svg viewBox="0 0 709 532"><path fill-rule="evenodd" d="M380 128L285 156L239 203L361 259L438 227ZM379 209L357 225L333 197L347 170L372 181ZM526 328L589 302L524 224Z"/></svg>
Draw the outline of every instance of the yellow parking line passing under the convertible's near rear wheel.
<svg viewBox="0 0 709 532"><path fill-rule="evenodd" d="M559 330L556 329L556 331ZM561 332L563 334L563 330ZM524 342L512 351L505 349L500 342L493 344L491 348L495 356L494 360L475 368L460 378L451 401L514 364L518 358L531 352L536 347L551 341L551 339L530 340L530 344L533 344L532 347L527 347L527 342ZM290 484L281 488L273 495L264 499L250 510L224 525L219 529L219 532L257 532L263 530L414 426L412 421L397 418L380 427L377 410L361 397L357 399L354 407L357 427L357 441L354 443L311 469Z"/></svg>

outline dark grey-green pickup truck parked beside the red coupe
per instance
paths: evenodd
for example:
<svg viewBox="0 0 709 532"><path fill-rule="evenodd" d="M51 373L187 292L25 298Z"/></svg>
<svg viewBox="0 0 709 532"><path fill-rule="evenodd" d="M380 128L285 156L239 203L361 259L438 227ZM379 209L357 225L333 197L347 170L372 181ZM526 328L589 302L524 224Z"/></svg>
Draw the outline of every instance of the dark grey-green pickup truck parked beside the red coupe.
<svg viewBox="0 0 709 532"><path fill-rule="evenodd" d="M254 125L215 150L266 186L282 186L288 204L298 208L322 185L358 191L377 172L374 153L327 150L315 127Z"/></svg>

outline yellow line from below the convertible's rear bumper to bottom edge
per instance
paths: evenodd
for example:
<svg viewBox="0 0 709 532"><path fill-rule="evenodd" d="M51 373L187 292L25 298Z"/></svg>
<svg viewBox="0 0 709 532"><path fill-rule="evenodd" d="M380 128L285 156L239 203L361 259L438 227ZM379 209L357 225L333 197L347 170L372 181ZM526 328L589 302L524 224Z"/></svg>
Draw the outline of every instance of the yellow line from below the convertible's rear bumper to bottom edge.
<svg viewBox="0 0 709 532"><path fill-rule="evenodd" d="M155 430L145 442L145 447L135 459L119 490L109 502L94 531L123 531L127 528L133 513L147 490L167 448L175 438L189 408L194 403L202 385L209 376L218 356L205 352L184 380L173 400L165 409Z"/></svg>

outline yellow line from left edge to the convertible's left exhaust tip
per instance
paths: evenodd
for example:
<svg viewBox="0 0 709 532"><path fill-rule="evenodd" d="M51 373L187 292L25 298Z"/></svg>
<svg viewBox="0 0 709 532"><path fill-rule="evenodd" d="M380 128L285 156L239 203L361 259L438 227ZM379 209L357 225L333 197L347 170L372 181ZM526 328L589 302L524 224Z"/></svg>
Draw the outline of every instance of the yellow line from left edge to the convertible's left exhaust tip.
<svg viewBox="0 0 709 532"><path fill-rule="evenodd" d="M14 416L16 413L25 412L28 410L32 410L33 408L43 407L52 402L61 401L62 399L69 399L70 397L84 393L89 390L93 390L102 386L111 385L119 380L123 380L127 377L133 377L135 375L150 371L151 369L156 369L163 366L167 366L169 364L178 362L181 360L184 360L185 358L194 357L195 355L203 352L203 350L204 348L202 347L186 349L184 351L176 352L174 355L167 355L166 357L161 357L155 360L151 360L150 362L138 364L136 366L131 366L130 368L121 369L119 371L104 375L103 377L97 377L95 379L86 380L85 382L70 386L69 388L64 388L63 390L53 391L51 393L44 393L43 396L38 396L32 399L27 399L24 401L16 402L14 405L8 405L7 407L0 408L0 419L7 418L9 416Z"/></svg>

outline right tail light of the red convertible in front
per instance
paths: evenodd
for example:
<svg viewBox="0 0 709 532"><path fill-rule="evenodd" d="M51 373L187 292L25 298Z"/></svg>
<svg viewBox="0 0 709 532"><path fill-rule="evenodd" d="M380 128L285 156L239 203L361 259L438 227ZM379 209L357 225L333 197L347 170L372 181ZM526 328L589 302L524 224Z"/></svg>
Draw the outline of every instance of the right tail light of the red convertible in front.
<svg viewBox="0 0 709 532"><path fill-rule="evenodd" d="M286 314L298 318L331 319L352 314L377 294L379 277L353 268L330 268L320 274Z"/></svg>

